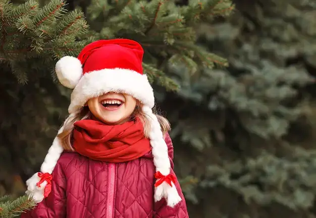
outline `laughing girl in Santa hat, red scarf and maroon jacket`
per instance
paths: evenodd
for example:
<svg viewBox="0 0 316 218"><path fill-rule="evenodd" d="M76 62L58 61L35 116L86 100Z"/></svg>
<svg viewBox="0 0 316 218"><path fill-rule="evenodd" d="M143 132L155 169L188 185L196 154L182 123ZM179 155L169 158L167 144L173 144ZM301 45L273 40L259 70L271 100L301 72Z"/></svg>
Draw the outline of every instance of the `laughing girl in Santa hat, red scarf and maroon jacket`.
<svg viewBox="0 0 316 218"><path fill-rule="evenodd" d="M57 62L59 81L74 89L70 115L26 182L38 205L22 218L189 217L142 57L137 42L114 39Z"/></svg>

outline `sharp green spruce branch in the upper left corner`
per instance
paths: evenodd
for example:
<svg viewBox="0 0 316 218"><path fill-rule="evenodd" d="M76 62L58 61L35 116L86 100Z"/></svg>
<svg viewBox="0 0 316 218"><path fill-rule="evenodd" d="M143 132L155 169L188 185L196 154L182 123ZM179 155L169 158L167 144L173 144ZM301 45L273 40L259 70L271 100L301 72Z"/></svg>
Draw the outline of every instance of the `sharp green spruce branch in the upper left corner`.
<svg viewBox="0 0 316 218"><path fill-rule="evenodd" d="M0 1L0 60L10 64L20 84L33 78L30 73L41 71L38 76L45 76L46 68L56 62L53 57L77 55L87 43L76 39L88 29L82 12L65 16L64 0L52 0L43 8L38 5L35 0L18 6Z"/></svg>

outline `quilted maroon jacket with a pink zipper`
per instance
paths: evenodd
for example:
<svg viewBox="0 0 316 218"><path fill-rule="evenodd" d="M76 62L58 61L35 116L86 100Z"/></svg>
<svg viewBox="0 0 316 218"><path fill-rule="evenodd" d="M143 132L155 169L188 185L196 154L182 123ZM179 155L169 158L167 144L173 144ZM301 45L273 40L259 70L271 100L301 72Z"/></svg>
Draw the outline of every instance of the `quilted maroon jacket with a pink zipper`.
<svg viewBox="0 0 316 218"><path fill-rule="evenodd" d="M173 146L166 137L173 168ZM52 190L21 218L187 218L182 198L174 208L153 200L155 167L151 152L127 163L104 163L64 153L52 172ZM172 173L173 170L172 170Z"/></svg>

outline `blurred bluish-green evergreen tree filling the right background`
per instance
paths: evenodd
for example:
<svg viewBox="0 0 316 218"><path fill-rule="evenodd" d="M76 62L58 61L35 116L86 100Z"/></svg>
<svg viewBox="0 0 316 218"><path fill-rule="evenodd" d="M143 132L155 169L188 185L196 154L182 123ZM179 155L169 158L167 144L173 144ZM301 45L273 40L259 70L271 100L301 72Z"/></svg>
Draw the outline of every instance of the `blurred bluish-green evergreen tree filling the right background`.
<svg viewBox="0 0 316 218"><path fill-rule="evenodd" d="M315 1L234 3L233 16L197 31L229 67L181 78L158 102L177 175L198 181L184 190L190 215L315 217Z"/></svg>

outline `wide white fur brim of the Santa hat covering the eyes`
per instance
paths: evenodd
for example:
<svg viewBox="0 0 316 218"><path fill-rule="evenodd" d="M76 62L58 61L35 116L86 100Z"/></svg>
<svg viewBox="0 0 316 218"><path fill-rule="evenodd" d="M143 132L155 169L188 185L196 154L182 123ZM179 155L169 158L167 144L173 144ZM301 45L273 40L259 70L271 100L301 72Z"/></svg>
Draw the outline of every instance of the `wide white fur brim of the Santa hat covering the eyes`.
<svg viewBox="0 0 316 218"><path fill-rule="evenodd" d="M71 94L68 112L74 113L89 99L108 92L124 92L150 108L154 106L153 90L146 75L134 70L114 68L84 74Z"/></svg>

